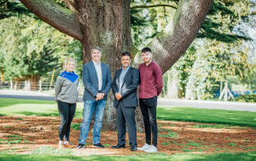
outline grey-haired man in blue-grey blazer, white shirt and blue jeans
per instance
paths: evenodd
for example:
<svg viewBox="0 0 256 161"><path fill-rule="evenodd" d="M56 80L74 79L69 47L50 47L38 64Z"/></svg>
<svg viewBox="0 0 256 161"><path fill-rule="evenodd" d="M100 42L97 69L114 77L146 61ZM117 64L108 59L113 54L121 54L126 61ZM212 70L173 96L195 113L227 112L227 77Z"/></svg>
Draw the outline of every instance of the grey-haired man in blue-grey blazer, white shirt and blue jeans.
<svg viewBox="0 0 256 161"><path fill-rule="evenodd" d="M93 61L83 66L84 82L84 117L80 129L80 140L77 148L84 148L89 132L89 125L94 111L93 147L104 148L100 143L102 116L111 87L110 67L101 62L102 49L93 47Z"/></svg>

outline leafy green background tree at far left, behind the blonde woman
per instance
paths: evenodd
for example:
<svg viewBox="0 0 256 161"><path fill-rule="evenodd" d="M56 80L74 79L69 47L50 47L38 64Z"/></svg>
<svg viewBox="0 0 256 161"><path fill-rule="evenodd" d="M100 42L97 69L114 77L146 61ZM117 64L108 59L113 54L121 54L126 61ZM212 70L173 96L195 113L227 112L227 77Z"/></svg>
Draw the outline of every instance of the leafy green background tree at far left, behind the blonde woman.
<svg viewBox="0 0 256 161"><path fill-rule="evenodd" d="M63 55L81 52L75 38L26 15L0 21L0 33L0 65L4 67L5 80L31 80L31 89L36 89L41 76L62 68L61 58L66 57ZM81 58L76 60L83 64Z"/></svg>

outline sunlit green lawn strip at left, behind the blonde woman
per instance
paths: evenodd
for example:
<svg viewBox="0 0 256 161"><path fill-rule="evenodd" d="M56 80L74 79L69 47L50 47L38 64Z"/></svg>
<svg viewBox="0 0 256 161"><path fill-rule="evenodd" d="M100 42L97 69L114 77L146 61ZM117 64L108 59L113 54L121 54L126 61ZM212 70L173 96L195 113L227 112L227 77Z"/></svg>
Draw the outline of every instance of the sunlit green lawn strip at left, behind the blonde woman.
<svg viewBox="0 0 256 161"><path fill-rule="evenodd" d="M76 104L75 118L83 117L83 103ZM57 103L49 100L0 98L0 115L57 116Z"/></svg>

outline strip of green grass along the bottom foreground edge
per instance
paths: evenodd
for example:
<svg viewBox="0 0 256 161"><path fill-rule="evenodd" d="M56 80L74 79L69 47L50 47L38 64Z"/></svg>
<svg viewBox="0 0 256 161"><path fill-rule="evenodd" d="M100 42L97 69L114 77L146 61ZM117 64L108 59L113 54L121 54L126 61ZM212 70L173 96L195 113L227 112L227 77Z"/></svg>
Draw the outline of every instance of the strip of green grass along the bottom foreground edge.
<svg viewBox="0 0 256 161"><path fill-rule="evenodd" d="M215 155L196 155L196 154L175 154L172 156L166 156L162 153L143 155L143 156L86 156L77 157L74 155L69 156L51 156L51 155L16 155L10 153L0 152L0 161L44 161L44 160L97 160L97 161L122 161L122 160L133 160L133 161L165 161L165 160L179 160L179 161L199 161L199 160L227 160L227 161L241 161L241 160L255 160L256 152L251 153L222 153Z"/></svg>

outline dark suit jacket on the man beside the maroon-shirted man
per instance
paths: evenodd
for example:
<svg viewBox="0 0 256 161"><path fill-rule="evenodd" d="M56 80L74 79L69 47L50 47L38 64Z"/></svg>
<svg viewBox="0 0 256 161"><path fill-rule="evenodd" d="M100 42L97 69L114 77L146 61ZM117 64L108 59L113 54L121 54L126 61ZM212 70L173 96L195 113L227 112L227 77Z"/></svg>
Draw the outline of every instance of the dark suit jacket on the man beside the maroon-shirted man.
<svg viewBox="0 0 256 161"><path fill-rule="evenodd" d="M119 69L114 76L112 81L112 92L115 96L119 92L119 76L122 72L122 69ZM139 84L139 71L136 68L130 67L128 72L125 75L123 84L121 85L121 100L123 101L124 106L134 107L137 106L137 86ZM119 100L114 97L114 107L117 107Z"/></svg>

